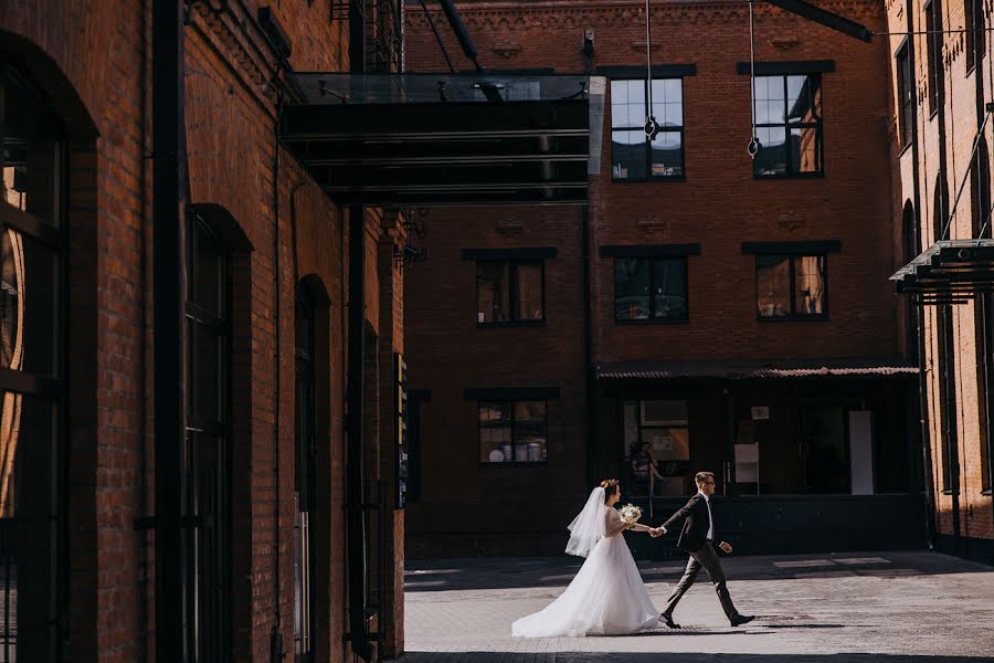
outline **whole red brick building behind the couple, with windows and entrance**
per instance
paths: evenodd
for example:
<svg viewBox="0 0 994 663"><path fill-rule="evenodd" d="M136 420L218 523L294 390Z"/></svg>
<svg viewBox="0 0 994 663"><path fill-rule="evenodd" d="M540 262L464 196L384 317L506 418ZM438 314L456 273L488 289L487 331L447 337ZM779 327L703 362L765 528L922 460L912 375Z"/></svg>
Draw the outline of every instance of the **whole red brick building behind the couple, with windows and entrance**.
<svg viewBox="0 0 994 663"><path fill-rule="evenodd" d="M878 2L817 4L887 28ZM484 66L603 76L607 101L585 206L424 217L408 554L557 554L594 481L658 520L697 470L741 550L920 545L886 40L758 3L753 66L748 3L654 2L649 147L643 8L459 4ZM422 12L405 36L409 69L445 70Z"/></svg>

